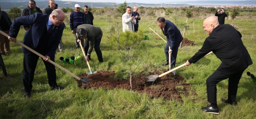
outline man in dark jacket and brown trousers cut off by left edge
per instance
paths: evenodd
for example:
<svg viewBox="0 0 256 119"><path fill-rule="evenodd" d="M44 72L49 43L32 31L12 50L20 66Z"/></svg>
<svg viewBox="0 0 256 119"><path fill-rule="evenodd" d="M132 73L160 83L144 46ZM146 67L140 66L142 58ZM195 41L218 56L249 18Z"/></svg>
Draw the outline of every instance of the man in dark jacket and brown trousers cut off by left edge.
<svg viewBox="0 0 256 119"><path fill-rule="evenodd" d="M4 11L1 11L0 6L0 30L9 34L9 29L12 25L11 19L8 14ZM0 34L0 52L2 55L6 55L10 51L10 43L7 37Z"/></svg>

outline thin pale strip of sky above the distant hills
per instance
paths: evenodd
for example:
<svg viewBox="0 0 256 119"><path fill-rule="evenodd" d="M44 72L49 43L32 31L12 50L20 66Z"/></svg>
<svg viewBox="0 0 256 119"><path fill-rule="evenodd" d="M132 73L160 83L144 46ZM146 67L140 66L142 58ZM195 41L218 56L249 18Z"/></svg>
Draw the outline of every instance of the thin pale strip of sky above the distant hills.
<svg viewBox="0 0 256 119"><path fill-rule="evenodd" d="M62 1L76 1L76 2L115 2L124 3L125 0L62 0ZM126 2L137 3L168 3L168 2L181 2L181 1L207 1L207 0L126 0ZM245 0L224 0L224 1L245 1Z"/></svg>

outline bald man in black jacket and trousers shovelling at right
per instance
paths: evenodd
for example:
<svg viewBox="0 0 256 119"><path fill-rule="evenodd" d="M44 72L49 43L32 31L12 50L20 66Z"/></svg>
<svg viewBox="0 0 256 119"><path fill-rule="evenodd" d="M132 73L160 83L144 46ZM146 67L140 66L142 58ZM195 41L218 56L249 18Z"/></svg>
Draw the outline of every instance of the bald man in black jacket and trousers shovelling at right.
<svg viewBox="0 0 256 119"><path fill-rule="evenodd" d="M216 84L229 78L228 99L222 99L221 101L236 105L239 80L243 71L253 62L243 45L242 35L231 25L219 25L217 17L210 16L204 20L203 27L208 32L209 37L205 39L202 48L186 64L196 63L210 51L213 51L222 61L217 70L206 80L208 102L211 104L202 108L206 113L219 114Z"/></svg>

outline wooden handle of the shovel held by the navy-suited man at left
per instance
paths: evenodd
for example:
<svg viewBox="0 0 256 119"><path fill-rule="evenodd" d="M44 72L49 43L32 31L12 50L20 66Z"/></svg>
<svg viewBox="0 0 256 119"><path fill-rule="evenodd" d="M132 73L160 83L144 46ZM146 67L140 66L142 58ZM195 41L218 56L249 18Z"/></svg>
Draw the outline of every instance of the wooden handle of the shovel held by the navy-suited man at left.
<svg viewBox="0 0 256 119"><path fill-rule="evenodd" d="M2 35L4 35L5 37L8 38L8 34L6 34L5 32L3 32L3 31L0 30L0 33L1 33ZM35 51L35 50L29 48L27 45L23 44L22 42L20 42L20 41L18 41L18 40L16 40L16 42L17 42L18 44L20 44L22 47L24 47L24 48L28 49L29 51L35 53L36 55L38 55L38 56L40 56L40 57L46 59L45 56L43 56L43 55L41 55L40 53L38 53L37 51ZM51 61L50 59L48 60L48 62L51 63L51 64L53 64L54 66L60 68L61 70L67 72L69 75L73 76L73 77L76 78L77 80L80 80L80 78L79 78L78 76L74 75L72 72L70 72L70 71L68 71L67 69L63 68L62 66L56 64L55 62Z"/></svg>

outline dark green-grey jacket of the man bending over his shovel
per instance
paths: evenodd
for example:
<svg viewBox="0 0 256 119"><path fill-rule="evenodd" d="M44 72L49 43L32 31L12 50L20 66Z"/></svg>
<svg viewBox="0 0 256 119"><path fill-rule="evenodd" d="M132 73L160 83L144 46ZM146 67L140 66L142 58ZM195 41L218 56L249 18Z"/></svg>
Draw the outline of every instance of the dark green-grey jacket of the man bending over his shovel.
<svg viewBox="0 0 256 119"><path fill-rule="evenodd" d="M82 24L77 26L77 30L83 28L86 30L87 39L89 40L89 50L88 54L91 54L94 47L94 41L102 37L102 30L100 27L92 26L90 24Z"/></svg>

